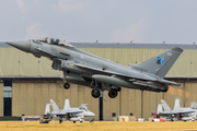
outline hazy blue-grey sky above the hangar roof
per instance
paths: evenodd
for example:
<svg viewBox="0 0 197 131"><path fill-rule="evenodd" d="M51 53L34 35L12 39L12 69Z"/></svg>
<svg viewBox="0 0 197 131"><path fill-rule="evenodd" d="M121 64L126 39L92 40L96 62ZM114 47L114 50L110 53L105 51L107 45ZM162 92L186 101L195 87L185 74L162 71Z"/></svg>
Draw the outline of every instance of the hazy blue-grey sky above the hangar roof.
<svg viewBox="0 0 197 131"><path fill-rule="evenodd" d="M0 40L197 43L197 0L0 0Z"/></svg>

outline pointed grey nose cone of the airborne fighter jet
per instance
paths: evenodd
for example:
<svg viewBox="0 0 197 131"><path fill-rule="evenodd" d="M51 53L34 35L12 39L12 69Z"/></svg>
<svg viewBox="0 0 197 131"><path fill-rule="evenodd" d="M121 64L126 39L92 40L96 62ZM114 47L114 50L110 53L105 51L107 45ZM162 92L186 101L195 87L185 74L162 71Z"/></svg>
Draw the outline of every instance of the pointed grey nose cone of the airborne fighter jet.
<svg viewBox="0 0 197 131"><path fill-rule="evenodd" d="M13 46L18 49L21 49L23 51L28 52L31 49L31 41L30 40L24 40L24 41L7 41L10 46Z"/></svg>

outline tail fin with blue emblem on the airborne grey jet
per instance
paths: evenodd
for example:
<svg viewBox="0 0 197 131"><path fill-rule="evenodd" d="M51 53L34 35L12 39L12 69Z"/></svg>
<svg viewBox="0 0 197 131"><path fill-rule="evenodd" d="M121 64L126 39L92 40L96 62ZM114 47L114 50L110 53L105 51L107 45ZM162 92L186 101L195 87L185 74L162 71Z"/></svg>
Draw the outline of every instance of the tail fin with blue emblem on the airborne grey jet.
<svg viewBox="0 0 197 131"><path fill-rule="evenodd" d="M137 67L147 70L148 73L164 78L182 52L183 49L175 47L137 64Z"/></svg>

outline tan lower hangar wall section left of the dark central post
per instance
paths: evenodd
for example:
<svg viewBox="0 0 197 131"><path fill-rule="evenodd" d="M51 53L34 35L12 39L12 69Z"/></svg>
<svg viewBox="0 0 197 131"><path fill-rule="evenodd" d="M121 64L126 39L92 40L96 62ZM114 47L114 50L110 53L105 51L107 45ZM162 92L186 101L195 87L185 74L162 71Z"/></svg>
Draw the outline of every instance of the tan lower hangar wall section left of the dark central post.
<svg viewBox="0 0 197 131"><path fill-rule="evenodd" d="M44 115L49 99L54 99L60 109L63 108L65 99L69 99L71 107L89 104L88 109L93 111L95 120L99 120L99 99L91 96L89 87L71 84L70 90L65 90L62 85L61 81L14 81L12 84L12 116Z"/></svg>

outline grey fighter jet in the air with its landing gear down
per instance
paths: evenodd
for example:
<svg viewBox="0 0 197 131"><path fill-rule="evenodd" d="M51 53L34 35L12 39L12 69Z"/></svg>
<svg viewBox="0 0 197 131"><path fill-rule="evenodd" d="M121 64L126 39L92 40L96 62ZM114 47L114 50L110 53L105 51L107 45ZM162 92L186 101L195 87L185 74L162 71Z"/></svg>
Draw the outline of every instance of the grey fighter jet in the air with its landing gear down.
<svg viewBox="0 0 197 131"><path fill-rule="evenodd" d="M176 82L163 79L183 52L178 47L144 62L125 67L53 37L7 44L37 58L47 57L53 61L54 70L63 72L61 79L66 90L70 87L69 83L89 86L94 98L100 97L100 91L108 91L108 96L115 98L121 87L165 93L169 85L179 86Z"/></svg>

